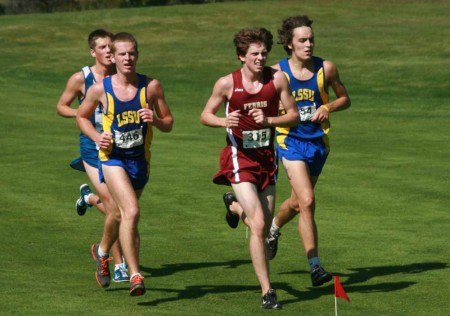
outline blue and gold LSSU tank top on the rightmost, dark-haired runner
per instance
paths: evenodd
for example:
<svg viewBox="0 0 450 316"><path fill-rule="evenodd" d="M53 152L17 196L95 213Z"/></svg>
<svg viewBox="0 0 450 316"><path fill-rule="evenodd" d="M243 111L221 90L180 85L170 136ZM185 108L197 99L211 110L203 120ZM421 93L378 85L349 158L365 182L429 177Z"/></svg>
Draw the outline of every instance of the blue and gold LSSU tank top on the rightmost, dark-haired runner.
<svg viewBox="0 0 450 316"><path fill-rule="evenodd" d="M291 87L292 95L300 114L300 124L291 128L277 127L276 134L300 139L312 139L328 134L330 122L321 124L311 122L316 110L323 104L328 103L328 92L325 89L325 72L323 59L313 57L314 74L308 80L298 80L292 74L288 58L279 62L280 69L285 74Z"/></svg>

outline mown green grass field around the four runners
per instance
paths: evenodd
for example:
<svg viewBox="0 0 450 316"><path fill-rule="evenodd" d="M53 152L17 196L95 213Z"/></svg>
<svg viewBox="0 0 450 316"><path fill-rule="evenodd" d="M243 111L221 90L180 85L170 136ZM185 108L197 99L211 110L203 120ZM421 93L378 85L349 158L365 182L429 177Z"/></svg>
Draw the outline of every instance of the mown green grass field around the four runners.
<svg viewBox="0 0 450 316"><path fill-rule="evenodd" d="M225 131L199 115L215 80L239 67L232 37L308 14L316 55L336 63L352 107L332 114L317 185L320 256L351 304L339 315L450 315L450 3L249 1L0 17L0 315L255 315L259 286L245 228L228 228L211 178ZM73 120L55 113L69 75L91 62L87 34L130 31L138 69L175 117L156 133L141 199L148 293L101 289L89 247L103 217L76 215ZM275 45L269 64L284 57ZM280 172L277 205L289 194ZM333 285L312 288L297 225L283 228L271 279L280 315L333 315Z"/></svg>

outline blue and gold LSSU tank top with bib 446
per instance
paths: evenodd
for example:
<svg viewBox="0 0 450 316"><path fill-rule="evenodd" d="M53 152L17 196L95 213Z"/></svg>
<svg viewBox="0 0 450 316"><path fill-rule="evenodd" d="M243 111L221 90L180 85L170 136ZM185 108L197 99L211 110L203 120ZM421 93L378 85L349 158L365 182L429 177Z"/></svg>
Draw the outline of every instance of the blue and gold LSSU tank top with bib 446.
<svg viewBox="0 0 450 316"><path fill-rule="evenodd" d="M144 123L138 113L147 104L147 77L137 74L138 89L133 99L122 101L114 93L111 78L103 79L107 104L103 115L103 129L112 133L113 142L108 149L101 149L101 161L111 156L117 158L150 157L153 131Z"/></svg>

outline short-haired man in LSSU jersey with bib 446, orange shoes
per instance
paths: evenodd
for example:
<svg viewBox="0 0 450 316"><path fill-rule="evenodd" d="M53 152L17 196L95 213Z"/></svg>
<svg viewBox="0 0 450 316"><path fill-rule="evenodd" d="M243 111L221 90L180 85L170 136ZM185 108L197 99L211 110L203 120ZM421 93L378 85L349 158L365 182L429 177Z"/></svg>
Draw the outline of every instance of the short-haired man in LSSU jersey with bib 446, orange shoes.
<svg viewBox="0 0 450 316"><path fill-rule="evenodd" d="M112 60L117 73L93 85L77 114L81 131L100 148L99 176L105 182L118 210L105 221L100 243L91 254L97 264L100 285L109 283L109 250L119 236L130 273L130 295L145 293L139 271L139 197L148 181L152 128L170 132L173 117L158 80L136 72L138 44L129 33L113 37ZM103 104L103 132L89 121Z"/></svg>

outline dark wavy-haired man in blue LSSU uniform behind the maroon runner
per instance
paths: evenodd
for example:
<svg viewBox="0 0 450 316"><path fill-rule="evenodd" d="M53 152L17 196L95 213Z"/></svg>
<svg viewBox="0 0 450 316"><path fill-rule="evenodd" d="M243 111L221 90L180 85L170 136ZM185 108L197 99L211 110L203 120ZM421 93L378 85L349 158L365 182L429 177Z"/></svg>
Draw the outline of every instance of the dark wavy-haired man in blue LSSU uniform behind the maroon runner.
<svg viewBox="0 0 450 316"><path fill-rule="evenodd" d="M285 200L272 221L266 239L269 258L275 257L280 228L300 214L298 228L310 265L313 286L332 279L321 265L318 253L318 232L315 223L316 185L325 165L330 146L328 132L331 112L350 106L350 98L339 78L336 66L329 60L313 56L312 20L307 16L285 19L278 30L279 42L289 58L275 68L284 72L300 113L296 127L277 129L277 152L291 185L291 197ZM329 100L332 88L336 99Z"/></svg>

